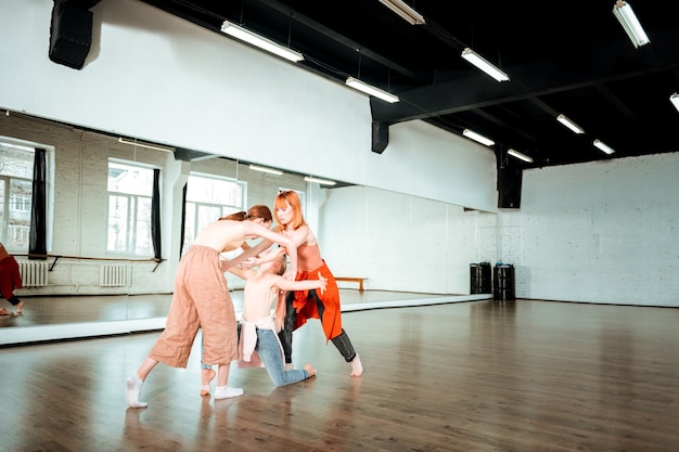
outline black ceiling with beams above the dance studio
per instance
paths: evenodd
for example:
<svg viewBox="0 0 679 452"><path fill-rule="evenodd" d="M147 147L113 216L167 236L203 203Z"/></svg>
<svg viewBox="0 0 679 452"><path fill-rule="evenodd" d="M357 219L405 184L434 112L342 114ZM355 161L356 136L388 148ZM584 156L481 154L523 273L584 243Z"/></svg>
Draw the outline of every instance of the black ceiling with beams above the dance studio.
<svg viewBox="0 0 679 452"><path fill-rule="evenodd" d="M299 66L344 83L393 92L371 99L373 120L422 119L495 140L498 165L545 167L679 151L679 2L630 3L650 38L638 49L615 0L406 0L410 25L379 0L144 0L219 33L229 20L302 52ZM497 82L460 57L472 48L511 80ZM555 118L565 114L586 131ZM594 139L616 150L606 155ZM514 147L533 164L507 157ZM385 151L388 152L388 148Z"/></svg>

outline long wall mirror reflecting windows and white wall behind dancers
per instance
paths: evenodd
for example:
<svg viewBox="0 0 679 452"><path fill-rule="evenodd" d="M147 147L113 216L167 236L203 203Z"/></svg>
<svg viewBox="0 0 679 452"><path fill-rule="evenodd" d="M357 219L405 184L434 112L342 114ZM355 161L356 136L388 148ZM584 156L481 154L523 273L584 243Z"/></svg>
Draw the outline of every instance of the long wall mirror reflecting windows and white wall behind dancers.
<svg viewBox="0 0 679 452"><path fill-rule="evenodd" d="M49 156L49 257L41 261L48 282L21 289L26 309L0 319L0 345L163 328L177 264L196 232L232 211L271 206L280 190L305 199L305 218L335 276L366 279L362 293L353 281L340 282L343 309L388 299L464 300L470 263L496 256L494 214L366 186L323 189L303 175L261 172L202 153L182 160L21 114L0 116L0 142L41 146ZM151 231L154 170L161 259ZM8 217L1 223L7 228ZM28 261L27 244L15 251ZM243 281L231 274L227 281L238 304ZM26 334L20 338L18 331Z"/></svg>

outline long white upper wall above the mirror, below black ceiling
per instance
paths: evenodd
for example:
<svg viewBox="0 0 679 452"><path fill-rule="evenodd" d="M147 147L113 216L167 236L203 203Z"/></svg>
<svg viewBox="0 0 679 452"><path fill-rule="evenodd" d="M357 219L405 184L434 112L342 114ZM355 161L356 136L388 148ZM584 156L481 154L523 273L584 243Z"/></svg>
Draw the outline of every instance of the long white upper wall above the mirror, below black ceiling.
<svg viewBox="0 0 679 452"><path fill-rule="evenodd" d="M92 8L81 70L52 63L52 5L0 0L0 108L496 209L489 150L418 121L375 154L368 96L138 0Z"/></svg>

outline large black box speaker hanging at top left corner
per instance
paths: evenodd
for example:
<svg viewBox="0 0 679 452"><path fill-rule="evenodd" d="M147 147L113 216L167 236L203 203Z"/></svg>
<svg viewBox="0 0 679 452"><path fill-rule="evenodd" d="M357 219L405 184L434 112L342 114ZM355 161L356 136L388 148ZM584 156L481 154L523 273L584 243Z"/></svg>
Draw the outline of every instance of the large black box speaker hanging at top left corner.
<svg viewBox="0 0 679 452"><path fill-rule="evenodd" d="M92 44L92 12L55 0L50 28L50 60L81 69Z"/></svg>

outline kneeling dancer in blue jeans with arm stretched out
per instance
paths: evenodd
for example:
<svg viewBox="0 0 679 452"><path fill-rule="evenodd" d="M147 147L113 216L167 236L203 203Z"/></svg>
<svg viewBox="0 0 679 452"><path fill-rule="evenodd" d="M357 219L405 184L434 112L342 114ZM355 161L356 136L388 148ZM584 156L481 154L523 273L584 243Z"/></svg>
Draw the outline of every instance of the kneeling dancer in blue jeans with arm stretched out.
<svg viewBox="0 0 679 452"><path fill-rule="evenodd" d="M273 258L273 260L269 260ZM286 370L283 361L283 348L278 337L284 312L277 310L277 319L271 309L277 306L281 290L325 290L328 280L319 274L318 280L289 281L285 273L285 256L273 251L261 255L258 270L229 269L236 276L246 280L243 290L243 321L240 328L239 367L264 366L273 384L278 387L292 385L316 375L316 369L305 364L304 369ZM284 309L285 304L278 304ZM203 369L209 369L202 364ZM203 385L202 396L209 395L209 384Z"/></svg>

